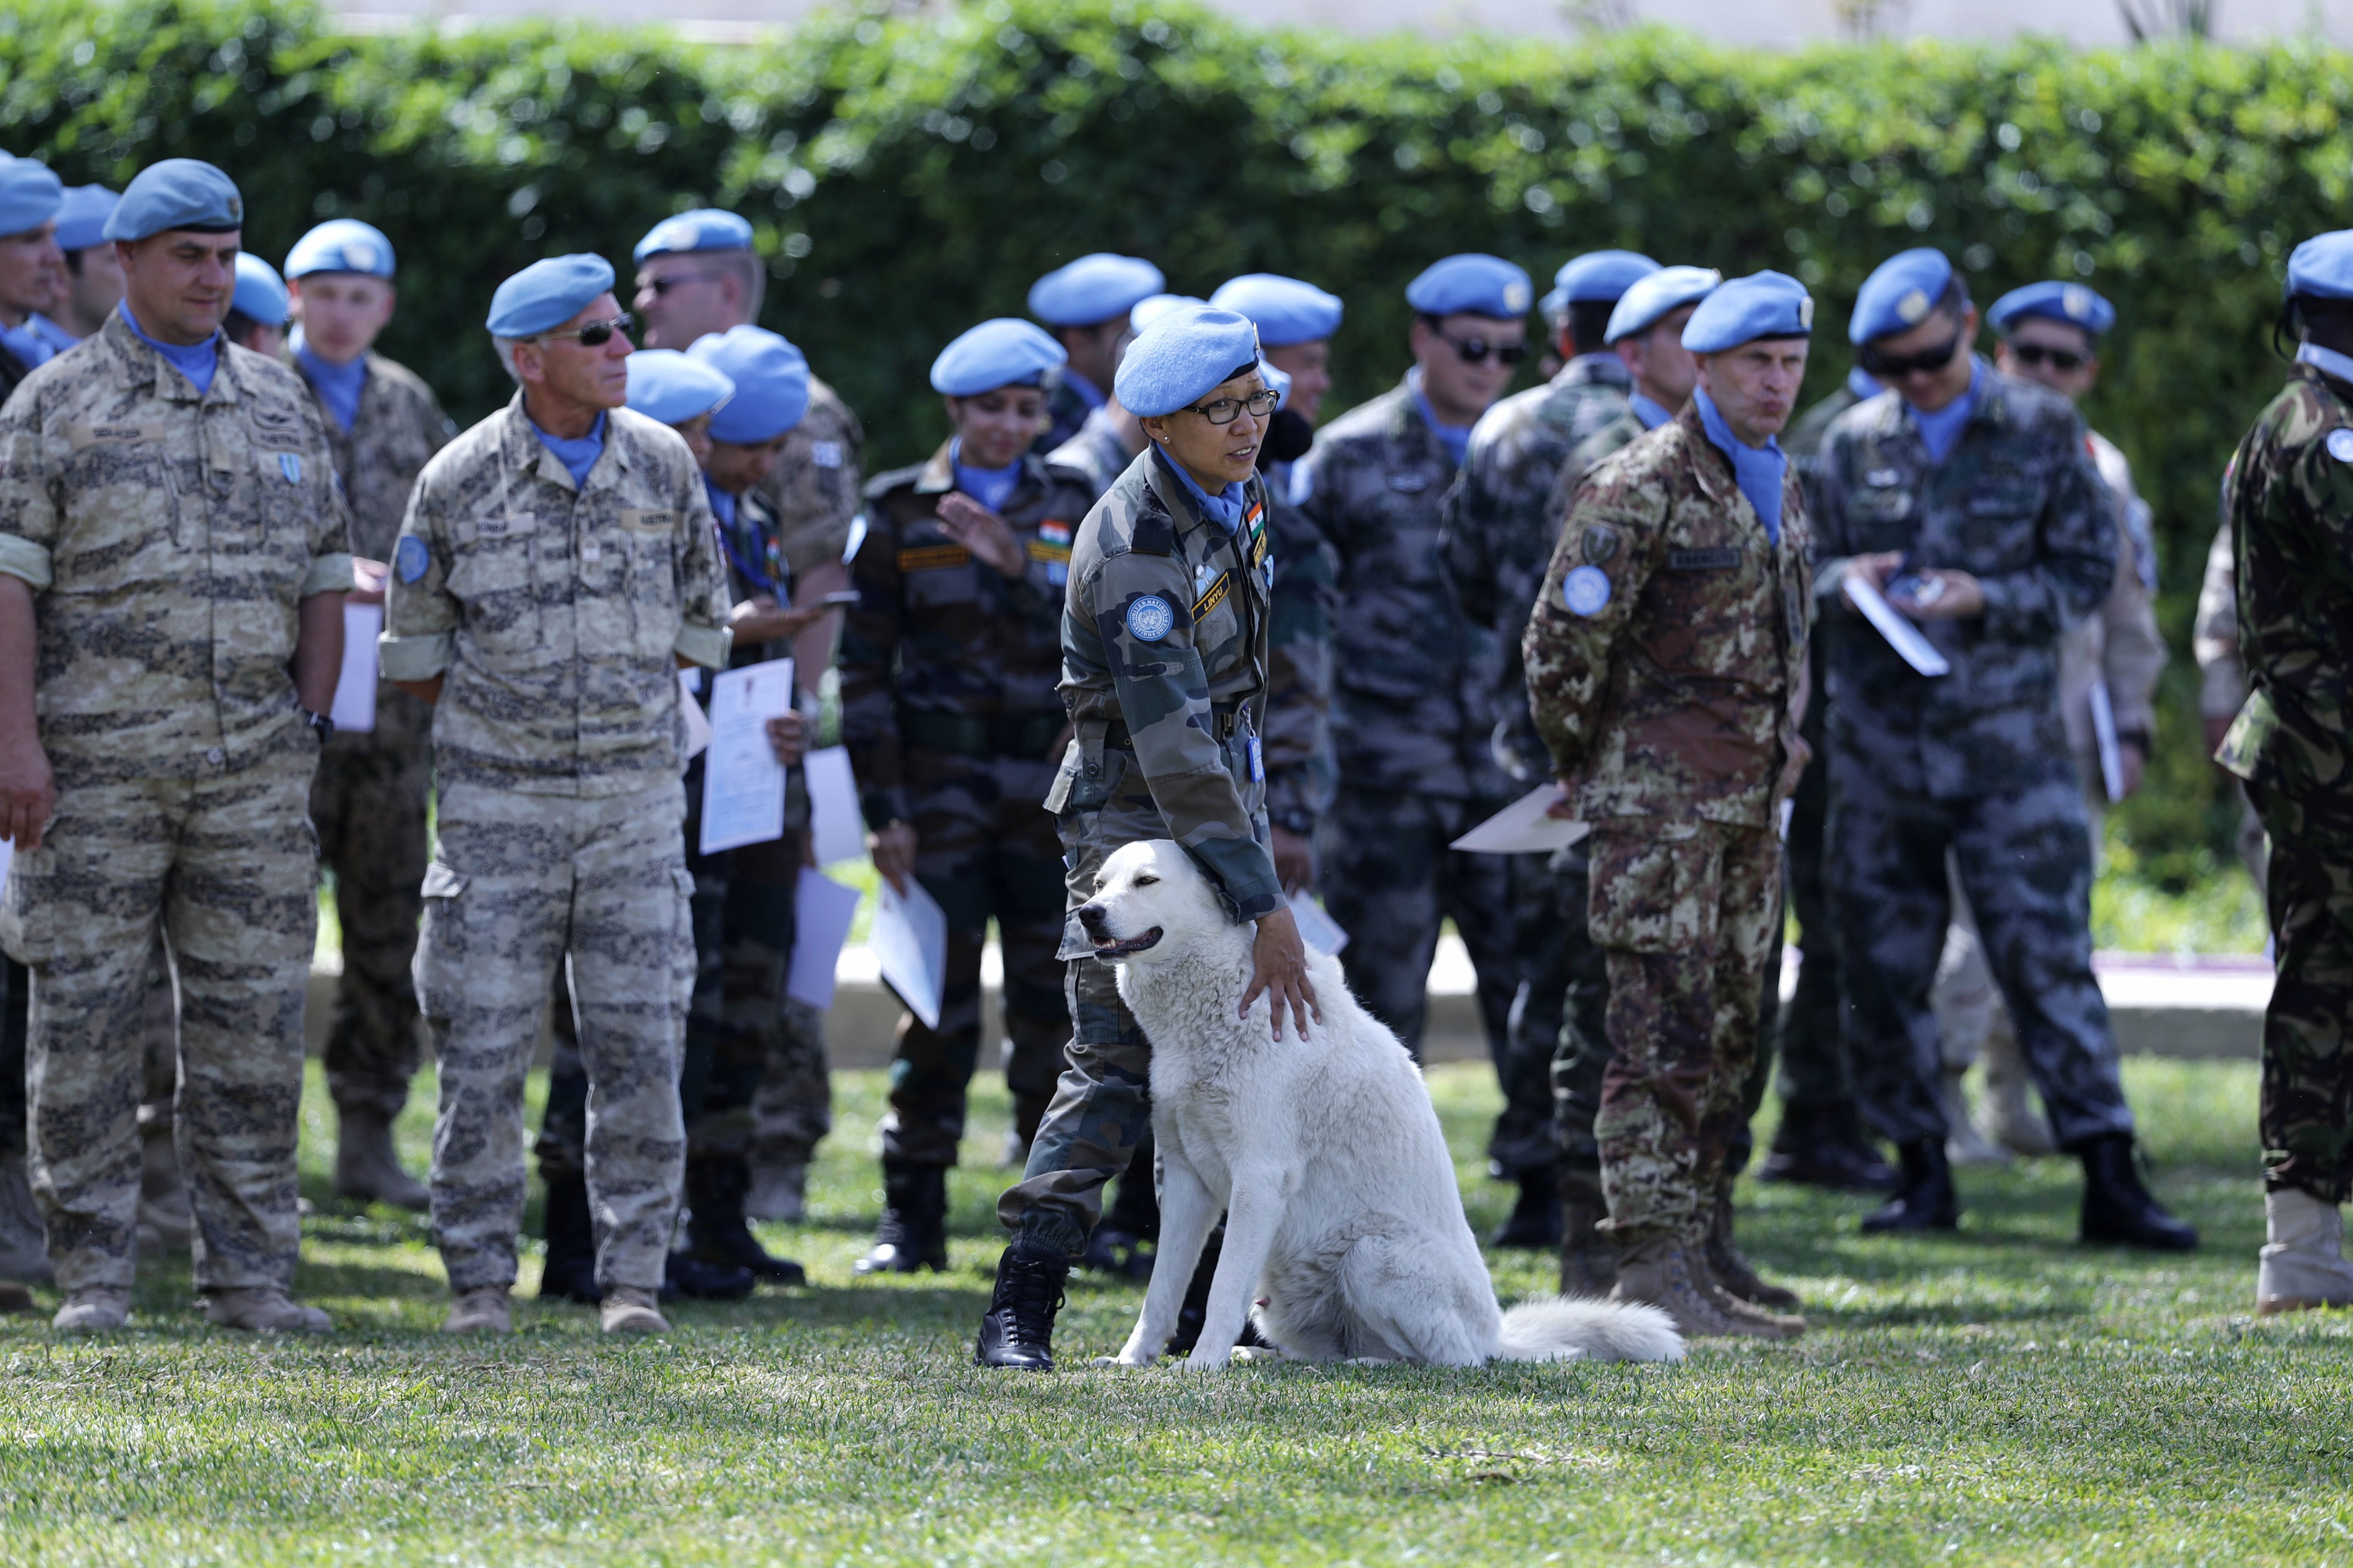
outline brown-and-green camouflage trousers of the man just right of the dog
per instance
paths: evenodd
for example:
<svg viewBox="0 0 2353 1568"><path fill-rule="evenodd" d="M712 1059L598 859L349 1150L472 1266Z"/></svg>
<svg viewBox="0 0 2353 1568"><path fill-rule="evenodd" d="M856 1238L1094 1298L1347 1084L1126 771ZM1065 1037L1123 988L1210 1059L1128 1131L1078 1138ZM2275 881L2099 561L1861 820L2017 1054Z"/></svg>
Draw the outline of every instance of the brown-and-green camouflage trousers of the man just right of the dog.
<svg viewBox="0 0 2353 1568"><path fill-rule="evenodd" d="M1781 844L1706 820L1607 820L1591 879L1593 945L1609 966L1612 1053L1593 1119L1609 1229L1621 1244L1697 1239L1748 1126Z"/></svg>

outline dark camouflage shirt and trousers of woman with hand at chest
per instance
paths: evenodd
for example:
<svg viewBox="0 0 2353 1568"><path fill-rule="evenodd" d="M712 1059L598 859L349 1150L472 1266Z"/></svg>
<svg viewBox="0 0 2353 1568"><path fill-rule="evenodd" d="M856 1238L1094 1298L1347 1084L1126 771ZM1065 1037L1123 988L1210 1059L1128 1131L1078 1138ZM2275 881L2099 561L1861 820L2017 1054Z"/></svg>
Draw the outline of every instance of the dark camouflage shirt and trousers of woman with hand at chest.
<svg viewBox="0 0 2353 1568"><path fill-rule="evenodd" d="M1061 846L1038 809L1054 785L1064 712L1061 602L1085 482L1031 456L1002 517L1026 571L1000 576L939 524L948 449L866 487L842 632L842 743L866 820L915 827L915 879L948 914L939 1027L899 1018L882 1159L953 1166L981 1051L981 947L1005 954L1005 1084L1014 1131L1038 1131L1071 1039L1064 1006ZM991 1041L995 1046L995 1041Z"/></svg>

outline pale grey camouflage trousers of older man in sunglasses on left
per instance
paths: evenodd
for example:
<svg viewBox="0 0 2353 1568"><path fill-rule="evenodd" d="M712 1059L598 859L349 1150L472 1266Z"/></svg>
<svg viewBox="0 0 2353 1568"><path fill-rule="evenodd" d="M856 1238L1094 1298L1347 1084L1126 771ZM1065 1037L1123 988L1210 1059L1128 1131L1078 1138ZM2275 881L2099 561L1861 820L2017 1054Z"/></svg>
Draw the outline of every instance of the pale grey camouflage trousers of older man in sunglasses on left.
<svg viewBox="0 0 2353 1568"><path fill-rule="evenodd" d="M678 1218L694 933L680 785L579 799L456 785L426 870L416 999L440 1060L433 1241L452 1291L513 1286L522 1079L569 973L598 1284L656 1288Z"/></svg>

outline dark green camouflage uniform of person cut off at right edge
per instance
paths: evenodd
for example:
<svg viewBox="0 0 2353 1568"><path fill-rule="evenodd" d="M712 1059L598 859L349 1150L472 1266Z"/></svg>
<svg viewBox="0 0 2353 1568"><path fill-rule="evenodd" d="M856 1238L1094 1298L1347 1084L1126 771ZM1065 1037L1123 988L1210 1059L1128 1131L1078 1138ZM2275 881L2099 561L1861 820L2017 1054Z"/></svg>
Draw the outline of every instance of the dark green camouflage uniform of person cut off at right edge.
<svg viewBox="0 0 2353 1568"><path fill-rule="evenodd" d="M2238 628L2254 691L2219 762L2271 832L2264 1187L2353 1190L2353 386L2299 367L2231 458Z"/></svg>

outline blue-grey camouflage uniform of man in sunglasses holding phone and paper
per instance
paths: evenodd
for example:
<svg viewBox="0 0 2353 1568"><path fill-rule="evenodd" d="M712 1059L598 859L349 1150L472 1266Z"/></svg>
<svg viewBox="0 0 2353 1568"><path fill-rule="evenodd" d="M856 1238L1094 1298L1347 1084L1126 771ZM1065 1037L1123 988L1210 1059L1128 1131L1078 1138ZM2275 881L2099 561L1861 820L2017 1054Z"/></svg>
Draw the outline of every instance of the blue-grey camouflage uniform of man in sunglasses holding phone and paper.
<svg viewBox="0 0 2353 1568"><path fill-rule="evenodd" d="M2132 1131L2092 978L2092 856L2059 717L2059 637L2115 578L2115 505L2064 397L1984 362L1967 395L1944 463L1894 393L1840 416L1817 463L1847 1048L1880 1133L1948 1133L1929 987L1951 849L2052 1131L2073 1147ZM1845 557L1875 550L1984 585L1981 618L1922 623L1951 675L1918 675L1847 607Z"/></svg>

